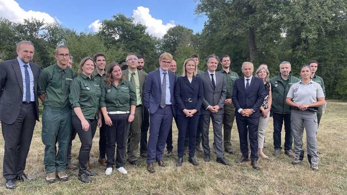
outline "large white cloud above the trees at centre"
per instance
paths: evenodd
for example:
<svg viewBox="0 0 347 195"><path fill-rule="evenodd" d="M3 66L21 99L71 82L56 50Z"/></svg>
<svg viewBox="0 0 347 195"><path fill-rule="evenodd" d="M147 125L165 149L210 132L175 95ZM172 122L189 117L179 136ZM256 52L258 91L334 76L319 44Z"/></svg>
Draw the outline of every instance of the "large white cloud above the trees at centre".
<svg viewBox="0 0 347 195"><path fill-rule="evenodd" d="M147 32L154 37L162 37L166 34L167 30L176 26L175 21L170 21L167 24L162 24L162 20L153 18L149 14L149 9L145 7L137 7L133 10L133 19L135 23L143 24L147 27Z"/></svg>

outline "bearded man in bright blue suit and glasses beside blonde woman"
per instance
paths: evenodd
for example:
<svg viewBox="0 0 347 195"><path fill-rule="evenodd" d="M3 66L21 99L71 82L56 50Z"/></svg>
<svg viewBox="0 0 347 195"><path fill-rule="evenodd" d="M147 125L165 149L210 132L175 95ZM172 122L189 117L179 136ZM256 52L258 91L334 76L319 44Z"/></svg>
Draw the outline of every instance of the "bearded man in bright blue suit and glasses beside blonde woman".
<svg viewBox="0 0 347 195"><path fill-rule="evenodd" d="M150 113L150 129L147 151L147 170L155 172L154 160L159 166L166 166L163 158L165 141L176 112L176 101L173 97L176 75L168 71L172 55L162 53L159 57L160 68L150 72L143 88L143 103Z"/></svg>

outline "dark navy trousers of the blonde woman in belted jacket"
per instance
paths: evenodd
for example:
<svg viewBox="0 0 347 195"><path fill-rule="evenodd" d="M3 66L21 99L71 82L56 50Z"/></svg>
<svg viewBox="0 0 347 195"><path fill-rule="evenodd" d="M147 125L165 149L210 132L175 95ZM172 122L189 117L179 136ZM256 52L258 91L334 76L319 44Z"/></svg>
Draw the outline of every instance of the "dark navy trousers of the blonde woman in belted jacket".
<svg viewBox="0 0 347 195"><path fill-rule="evenodd" d="M199 116L186 117L185 115L177 115L179 129L179 139L177 141L177 153L179 158L182 158L185 152L186 135L189 138L189 157L194 157L196 146L196 135L199 123Z"/></svg>

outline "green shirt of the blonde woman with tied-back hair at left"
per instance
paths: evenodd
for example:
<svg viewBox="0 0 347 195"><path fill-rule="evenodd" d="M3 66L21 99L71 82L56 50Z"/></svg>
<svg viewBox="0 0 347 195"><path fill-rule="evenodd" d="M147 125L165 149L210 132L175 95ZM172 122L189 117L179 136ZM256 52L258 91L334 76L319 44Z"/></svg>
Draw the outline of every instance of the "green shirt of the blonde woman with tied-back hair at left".
<svg viewBox="0 0 347 195"><path fill-rule="evenodd" d="M70 103L72 109L80 107L85 119L98 119L99 102L101 97L101 89L98 81L83 73L80 73L73 79L70 86ZM72 116L76 115L72 111Z"/></svg>

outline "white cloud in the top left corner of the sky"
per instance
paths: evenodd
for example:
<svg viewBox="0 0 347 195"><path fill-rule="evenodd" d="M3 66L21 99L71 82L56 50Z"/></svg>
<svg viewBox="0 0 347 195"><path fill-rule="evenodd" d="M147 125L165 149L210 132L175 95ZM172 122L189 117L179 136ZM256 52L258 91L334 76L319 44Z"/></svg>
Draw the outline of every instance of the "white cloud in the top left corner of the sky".
<svg viewBox="0 0 347 195"><path fill-rule="evenodd" d="M55 23L56 21L59 21L56 17L55 20L49 14L44 12L32 10L25 11L15 0L0 0L0 18L1 17L16 23L23 23L24 19L31 18L38 19L40 21L44 20L45 23Z"/></svg>

